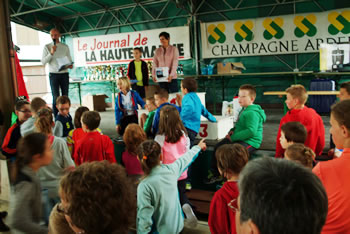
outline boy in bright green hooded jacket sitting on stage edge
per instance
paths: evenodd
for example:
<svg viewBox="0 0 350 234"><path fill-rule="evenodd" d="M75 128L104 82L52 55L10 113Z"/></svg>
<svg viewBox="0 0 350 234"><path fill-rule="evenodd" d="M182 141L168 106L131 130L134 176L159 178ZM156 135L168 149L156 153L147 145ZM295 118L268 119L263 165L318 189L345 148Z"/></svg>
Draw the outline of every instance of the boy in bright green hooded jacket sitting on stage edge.
<svg viewBox="0 0 350 234"><path fill-rule="evenodd" d="M241 144L248 150L250 155L260 147L263 138L263 123L266 121L266 115L259 105L254 104L255 98L256 90L254 86L246 84L239 88L238 102L242 110L239 113L238 121L234 128L214 148L209 175L204 181L206 184L213 184L222 180L217 169L215 157L215 152L221 145Z"/></svg>

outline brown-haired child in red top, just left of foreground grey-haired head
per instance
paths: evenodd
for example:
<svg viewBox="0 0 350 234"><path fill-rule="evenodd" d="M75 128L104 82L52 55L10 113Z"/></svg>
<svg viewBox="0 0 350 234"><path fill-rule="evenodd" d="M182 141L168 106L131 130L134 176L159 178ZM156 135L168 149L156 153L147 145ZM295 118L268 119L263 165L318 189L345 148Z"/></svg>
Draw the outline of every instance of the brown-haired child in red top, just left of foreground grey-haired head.
<svg viewBox="0 0 350 234"><path fill-rule="evenodd" d="M226 144L216 151L217 166L221 176L227 179L210 203L208 225L212 234L236 232L238 175L248 162L248 151L240 144Z"/></svg>

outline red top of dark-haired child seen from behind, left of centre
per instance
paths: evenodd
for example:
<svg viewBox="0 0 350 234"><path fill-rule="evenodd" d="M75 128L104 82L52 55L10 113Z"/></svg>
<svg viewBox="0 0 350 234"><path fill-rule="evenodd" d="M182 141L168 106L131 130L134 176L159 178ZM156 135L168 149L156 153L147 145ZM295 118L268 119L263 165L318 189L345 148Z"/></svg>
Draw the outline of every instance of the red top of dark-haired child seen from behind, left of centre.
<svg viewBox="0 0 350 234"><path fill-rule="evenodd" d="M115 163L114 145L111 139L99 132L89 132L77 142L74 153L76 165L84 162L107 160Z"/></svg>

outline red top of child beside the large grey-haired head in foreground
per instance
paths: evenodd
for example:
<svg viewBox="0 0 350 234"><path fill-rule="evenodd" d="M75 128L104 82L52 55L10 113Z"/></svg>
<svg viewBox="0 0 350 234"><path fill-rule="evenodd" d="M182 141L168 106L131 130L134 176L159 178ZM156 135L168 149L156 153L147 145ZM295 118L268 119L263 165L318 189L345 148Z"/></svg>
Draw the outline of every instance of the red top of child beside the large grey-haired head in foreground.
<svg viewBox="0 0 350 234"><path fill-rule="evenodd" d="M212 234L225 234L236 232L236 212L228 204L237 208L239 195L237 182L226 182L215 194L210 203L208 225Z"/></svg>

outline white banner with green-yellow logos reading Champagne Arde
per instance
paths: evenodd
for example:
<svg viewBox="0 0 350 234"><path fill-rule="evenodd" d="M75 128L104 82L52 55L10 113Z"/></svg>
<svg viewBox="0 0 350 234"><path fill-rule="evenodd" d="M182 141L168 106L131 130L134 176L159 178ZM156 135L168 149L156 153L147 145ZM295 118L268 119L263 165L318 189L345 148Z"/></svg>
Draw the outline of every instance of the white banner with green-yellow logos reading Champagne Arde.
<svg viewBox="0 0 350 234"><path fill-rule="evenodd" d="M201 38L203 58L315 53L350 42L350 8L201 23Z"/></svg>

